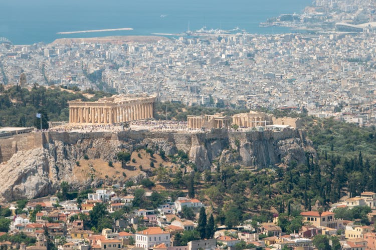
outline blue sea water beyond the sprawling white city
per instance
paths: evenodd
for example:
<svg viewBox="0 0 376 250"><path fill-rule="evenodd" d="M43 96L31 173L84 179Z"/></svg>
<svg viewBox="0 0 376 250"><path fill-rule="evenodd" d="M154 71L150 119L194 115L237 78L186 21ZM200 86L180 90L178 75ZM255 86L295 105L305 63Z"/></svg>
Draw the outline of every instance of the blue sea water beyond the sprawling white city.
<svg viewBox="0 0 376 250"><path fill-rule="evenodd" d="M236 26L251 33L284 33L259 27L267 18L301 12L311 0L0 0L0 37L15 44L62 37L150 35ZM161 17L161 15L166 15ZM134 30L56 34L63 31L131 27Z"/></svg>

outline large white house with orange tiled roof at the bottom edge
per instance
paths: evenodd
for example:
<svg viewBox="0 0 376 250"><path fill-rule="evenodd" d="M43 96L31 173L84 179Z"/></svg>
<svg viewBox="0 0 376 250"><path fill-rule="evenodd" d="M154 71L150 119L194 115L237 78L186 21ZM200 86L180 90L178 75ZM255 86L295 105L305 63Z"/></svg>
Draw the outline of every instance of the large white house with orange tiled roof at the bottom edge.
<svg viewBox="0 0 376 250"><path fill-rule="evenodd" d="M160 227L149 227L135 233L135 246L148 248L153 245L164 243L170 246L170 233L163 231Z"/></svg>

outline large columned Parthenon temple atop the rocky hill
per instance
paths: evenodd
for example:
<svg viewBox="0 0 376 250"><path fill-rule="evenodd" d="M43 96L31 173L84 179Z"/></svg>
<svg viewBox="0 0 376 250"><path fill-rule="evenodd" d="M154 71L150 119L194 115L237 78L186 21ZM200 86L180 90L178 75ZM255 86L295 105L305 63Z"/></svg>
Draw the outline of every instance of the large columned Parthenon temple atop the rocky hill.
<svg viewBox="0 0 376 250"><path fill-rule="evenodd" d="M113 95L98 101L69 101L70 123L112 124L153 118L155 96Z"/></svg>

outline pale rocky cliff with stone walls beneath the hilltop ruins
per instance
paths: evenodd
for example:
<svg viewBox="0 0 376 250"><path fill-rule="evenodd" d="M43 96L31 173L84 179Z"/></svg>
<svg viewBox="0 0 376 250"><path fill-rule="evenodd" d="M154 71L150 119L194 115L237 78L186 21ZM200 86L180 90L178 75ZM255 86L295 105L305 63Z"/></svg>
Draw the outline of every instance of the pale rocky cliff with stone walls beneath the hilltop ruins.
<svg viewBox="0 0 376 250"><path fill-rule="evenodd" d="M98 177L78 178L74 174L75 168L79 167L77 160L87 155L85 157L90 159L116 161L117 152L137 148L161 148L166 155L183 150L199 171L216 167L213 160L257 167L291 160L302 163L305 151L314 152L304 133L295 129L279 132L214 129L199 133L123 131L17 135L0 139L0 154L4 154L0 159L7 160L0 164L0 201L52 194L61 181L68 181L77 188L98 185L103 182ZM133 178L136 181L143 175ZM114 182L124 180L119 174Z"/></svg>

